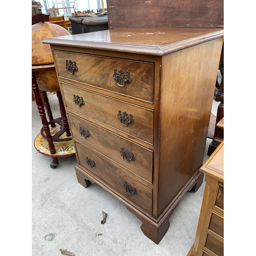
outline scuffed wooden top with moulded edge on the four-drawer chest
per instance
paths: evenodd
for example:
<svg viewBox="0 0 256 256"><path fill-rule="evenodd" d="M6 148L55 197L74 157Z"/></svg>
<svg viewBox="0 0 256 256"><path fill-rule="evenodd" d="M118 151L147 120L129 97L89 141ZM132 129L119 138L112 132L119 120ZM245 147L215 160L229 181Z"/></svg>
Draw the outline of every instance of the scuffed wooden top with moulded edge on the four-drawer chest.
<svg viewBox="0 0 256 256"><path fill-rule="evenodd" d="M163 56L223 37L223 29L123 28L48 38L45 44Z"/></svg>

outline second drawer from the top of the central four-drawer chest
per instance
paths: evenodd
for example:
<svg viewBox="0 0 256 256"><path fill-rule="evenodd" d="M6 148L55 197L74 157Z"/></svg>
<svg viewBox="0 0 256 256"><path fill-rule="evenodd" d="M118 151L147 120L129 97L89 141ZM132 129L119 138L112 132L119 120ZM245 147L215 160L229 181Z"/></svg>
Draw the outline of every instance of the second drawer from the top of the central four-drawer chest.
<svg viewBox="0 0 256 256"><path fill-rule="evenodd" d="M154 111L61 83L67 108L153 144Z"/></svg>

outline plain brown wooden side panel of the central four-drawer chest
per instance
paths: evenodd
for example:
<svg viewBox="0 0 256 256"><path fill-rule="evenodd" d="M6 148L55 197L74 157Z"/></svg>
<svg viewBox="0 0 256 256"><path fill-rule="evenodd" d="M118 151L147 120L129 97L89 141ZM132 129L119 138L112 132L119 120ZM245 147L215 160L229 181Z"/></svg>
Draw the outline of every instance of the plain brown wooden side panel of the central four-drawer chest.
<svg viewBox="0 0 256 256"><path fill-rule="evenodd" d="M221 47L219 38L163 57L159 214L202 164Z"/></svg>

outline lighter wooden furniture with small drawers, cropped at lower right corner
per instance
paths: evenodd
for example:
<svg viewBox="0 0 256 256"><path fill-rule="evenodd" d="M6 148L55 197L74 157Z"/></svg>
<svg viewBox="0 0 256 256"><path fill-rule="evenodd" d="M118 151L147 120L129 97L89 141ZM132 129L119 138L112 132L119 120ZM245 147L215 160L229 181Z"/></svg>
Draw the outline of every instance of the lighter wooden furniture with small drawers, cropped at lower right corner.
<svg viewBox="0 0 256 256"><path fill-rule="evenodd" d="M224 141L201 168L205 190L194 245L187 256L224 255Z"/></svg>

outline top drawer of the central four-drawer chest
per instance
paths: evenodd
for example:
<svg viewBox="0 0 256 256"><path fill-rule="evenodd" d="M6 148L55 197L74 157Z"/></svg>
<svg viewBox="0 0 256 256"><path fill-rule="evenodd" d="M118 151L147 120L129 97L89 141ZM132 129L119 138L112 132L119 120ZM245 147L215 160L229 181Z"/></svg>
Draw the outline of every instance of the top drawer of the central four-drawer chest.
<svg viewBox="0 0 256 256"><path fill-rule="evenodd" d="M58 76L153 102L153 63L81 53L53 52ZM70 64L76 65L77 71L69 72ZM114 76L120 81L117 82Z"/></svg>

